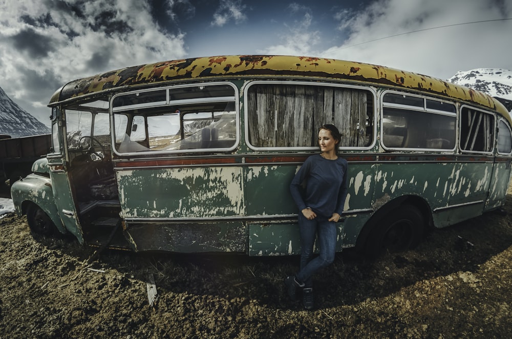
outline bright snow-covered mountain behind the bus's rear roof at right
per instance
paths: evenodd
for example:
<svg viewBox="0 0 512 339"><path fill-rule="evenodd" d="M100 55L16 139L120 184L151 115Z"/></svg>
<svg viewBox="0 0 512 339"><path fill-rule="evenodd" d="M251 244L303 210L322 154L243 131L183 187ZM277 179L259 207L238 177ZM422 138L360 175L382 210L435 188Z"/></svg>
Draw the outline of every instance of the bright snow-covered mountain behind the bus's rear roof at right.
<svg viewBox="0 0 512 339"><path fill-rule="evenodd" d="M512 71L500 68L477 68L459 71L448 81L473 88L498 98L512 110Z"/></svg>

